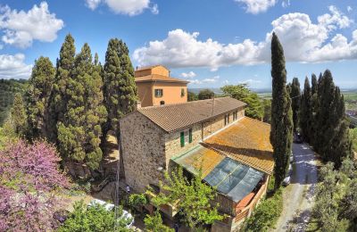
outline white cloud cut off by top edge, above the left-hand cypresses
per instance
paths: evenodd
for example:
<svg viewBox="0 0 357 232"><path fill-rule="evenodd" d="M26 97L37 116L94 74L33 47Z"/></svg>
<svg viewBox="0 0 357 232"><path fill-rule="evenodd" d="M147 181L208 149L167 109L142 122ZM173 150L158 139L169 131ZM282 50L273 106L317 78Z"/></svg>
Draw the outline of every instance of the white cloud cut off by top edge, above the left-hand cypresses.
<svg viewBox="0 0 357 232"><path fill-rule="evenodd" d="M86 0L87 7L95 10L99 4L104 3L112 10L112 12L135 16L144 12L146 9L154 14L159 13L157 4L150 6L150 0Z"/></svg>

